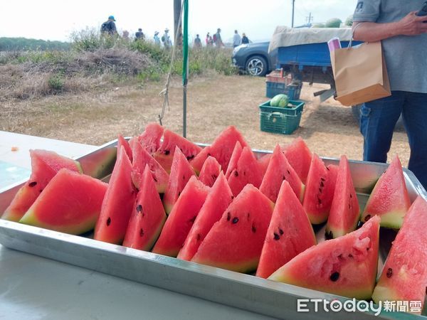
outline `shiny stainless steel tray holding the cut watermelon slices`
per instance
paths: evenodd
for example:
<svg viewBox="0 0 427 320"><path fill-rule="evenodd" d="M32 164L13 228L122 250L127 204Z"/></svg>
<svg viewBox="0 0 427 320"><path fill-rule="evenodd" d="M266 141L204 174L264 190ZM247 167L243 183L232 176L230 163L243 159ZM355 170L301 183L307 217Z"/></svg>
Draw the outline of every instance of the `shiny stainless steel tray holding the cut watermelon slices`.
<svg viewBox="0 0 427 320"><path fill-rule="evenodd" d="M116 144L117 140L107 143L78 160L84 169L102 162L102 169L94 174L108 178L115 160L111 155L115 154ZM270 151L255 150L257 156L265 153ZM337 159L323 160L326 164L338 163ZM349 162L359 203L363 207L367 193L386 169L386 164ZM426 191L411 171L404 169L404 176L411 201L418 195L427 199ZM0 190L0 212L9 205L24 182ZM322 241L325 227L315 231L317 239ZM395 235L394 231L381 230L379 271ZM281 319L426 319L402 312L382 312L379 316L359 311L326 312L322 308L316 313L297 312L297 299L338 299L344 302L347 298L112 245L93 240L90 235L68 235L6 220L0 220L0 243L14 250Z"/></svg>

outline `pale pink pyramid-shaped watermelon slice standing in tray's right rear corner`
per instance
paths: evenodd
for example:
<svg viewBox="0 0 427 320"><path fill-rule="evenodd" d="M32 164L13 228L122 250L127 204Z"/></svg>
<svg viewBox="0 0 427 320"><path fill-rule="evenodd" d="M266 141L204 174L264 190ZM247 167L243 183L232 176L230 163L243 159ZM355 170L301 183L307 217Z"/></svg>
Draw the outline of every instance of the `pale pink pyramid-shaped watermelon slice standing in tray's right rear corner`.
<svg viewBox="0 0 427 320"><path fill-rule="evenodd" d="M411 201L402 164L396 155L389 168L376 182L360 220L367 221L373 215L379 215L381 227L399 229L409 206Z"/></svg>

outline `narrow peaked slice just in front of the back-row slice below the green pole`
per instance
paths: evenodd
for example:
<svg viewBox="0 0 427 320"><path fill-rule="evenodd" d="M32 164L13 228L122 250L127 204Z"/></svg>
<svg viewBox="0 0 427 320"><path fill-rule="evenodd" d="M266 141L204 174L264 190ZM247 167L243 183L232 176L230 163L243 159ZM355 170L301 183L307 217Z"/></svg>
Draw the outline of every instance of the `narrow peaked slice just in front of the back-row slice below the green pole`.
<svg viewBox="0 0 427 320"><path fill-rule="evenodd" d="M194 171L179 147L176 146L169 182L167 183L167 188L163 196L164 210L167 214L172 211L176 200L184 190L191 176L194 176Z"/></svg>

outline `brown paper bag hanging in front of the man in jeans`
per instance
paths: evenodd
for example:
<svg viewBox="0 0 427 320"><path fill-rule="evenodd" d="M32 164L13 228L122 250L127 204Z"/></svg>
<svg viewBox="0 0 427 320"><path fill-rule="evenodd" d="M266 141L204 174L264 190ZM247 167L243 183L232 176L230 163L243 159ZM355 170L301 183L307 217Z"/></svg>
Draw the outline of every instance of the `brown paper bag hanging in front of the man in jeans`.
<svg viewBox="0 0 427 320"><path fill-rule="evenodd" d="M337 100L343 105L363 102L391 95L381 42L331 52Z"/></svg>

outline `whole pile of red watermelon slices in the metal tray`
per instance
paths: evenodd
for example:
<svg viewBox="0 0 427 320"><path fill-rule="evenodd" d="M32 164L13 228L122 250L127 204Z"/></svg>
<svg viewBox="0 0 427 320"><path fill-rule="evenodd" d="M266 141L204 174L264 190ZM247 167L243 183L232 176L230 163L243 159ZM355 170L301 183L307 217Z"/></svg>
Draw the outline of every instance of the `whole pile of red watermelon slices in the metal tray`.
<svg viewBox="0 0 427 320"><path fill-rule="evenodd" d="M426 295L427 202L411 204L397 156L364 208L346 156L327 165L297 138L260 157L233 126L203 149L158 124L119 135L108 184L51 151L31 160L2 219L343 297ZM400 230L376 284L380 227Z"/></svg>

